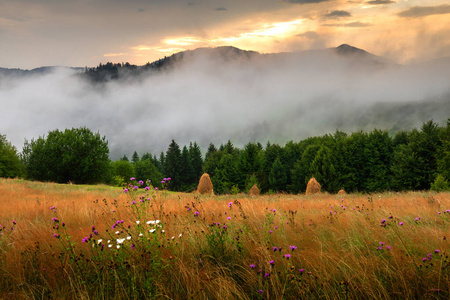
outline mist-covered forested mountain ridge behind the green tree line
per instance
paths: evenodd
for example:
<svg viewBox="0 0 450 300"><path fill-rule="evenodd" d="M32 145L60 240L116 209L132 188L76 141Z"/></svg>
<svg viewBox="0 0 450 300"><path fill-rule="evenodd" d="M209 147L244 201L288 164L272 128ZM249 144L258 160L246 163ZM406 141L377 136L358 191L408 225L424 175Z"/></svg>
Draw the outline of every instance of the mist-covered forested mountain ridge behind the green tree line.
<svg viewBox="0 0 450 300"><path fill-rule="evenodd" d="M117 68L116 68L117 69ZM24 139L86 126L111 158L231 140L283 144L373 128L418 128L450 116L450 58L399 65L361 49L259 54L197 49L114 72L0 69L0 133Z"/></svg>

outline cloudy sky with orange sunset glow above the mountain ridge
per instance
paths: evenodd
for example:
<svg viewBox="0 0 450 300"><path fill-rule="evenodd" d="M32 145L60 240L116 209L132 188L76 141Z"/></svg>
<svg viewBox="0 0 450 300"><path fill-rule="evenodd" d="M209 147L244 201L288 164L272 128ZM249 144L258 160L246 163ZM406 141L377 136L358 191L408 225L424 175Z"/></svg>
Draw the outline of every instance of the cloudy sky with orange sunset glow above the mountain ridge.
<svg viewBox="0 0 450 300"><path fill-rule="evenodd" d="M0 0L0 67L143 65L199 47L347 43L398 63L450 55L446 0Z"/></svg>

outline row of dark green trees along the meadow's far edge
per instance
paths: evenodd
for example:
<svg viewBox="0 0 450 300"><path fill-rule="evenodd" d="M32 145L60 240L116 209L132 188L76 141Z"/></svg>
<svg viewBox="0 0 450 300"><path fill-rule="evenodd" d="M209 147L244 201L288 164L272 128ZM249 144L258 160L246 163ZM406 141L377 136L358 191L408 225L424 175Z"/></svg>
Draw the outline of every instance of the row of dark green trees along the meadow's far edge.
<svg viewBox="0 0 450 300"><path fill-rule="evenodd" d="M73 128L27 141L18 153L0 135L0 177L113 185L136 177L154 187L170 177L168 189L192 191L205 172L218 194L246 192L254 184L262 193L303 193L313 176L330 193L448 190L450 181L450 119L444 127L430 120L393 135L336 131L284 146L211 143L204 157L196 142L181 148L172 140L159 156L134 151L131 160L124 155L111 161L107 144L99 133Z"/></svg>

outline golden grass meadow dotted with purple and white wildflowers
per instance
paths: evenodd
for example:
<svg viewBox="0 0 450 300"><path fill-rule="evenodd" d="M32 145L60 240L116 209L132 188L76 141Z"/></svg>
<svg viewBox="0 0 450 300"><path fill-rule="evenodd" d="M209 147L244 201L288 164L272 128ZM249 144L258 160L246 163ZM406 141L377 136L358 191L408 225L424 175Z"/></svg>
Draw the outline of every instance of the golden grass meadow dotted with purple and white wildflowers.
<svg viewBox="0 0 450 300"><path fill-rule="evenodd" d="M0 298L450 297L449 193L249 198L131 184L0 179Z"/></svg>

